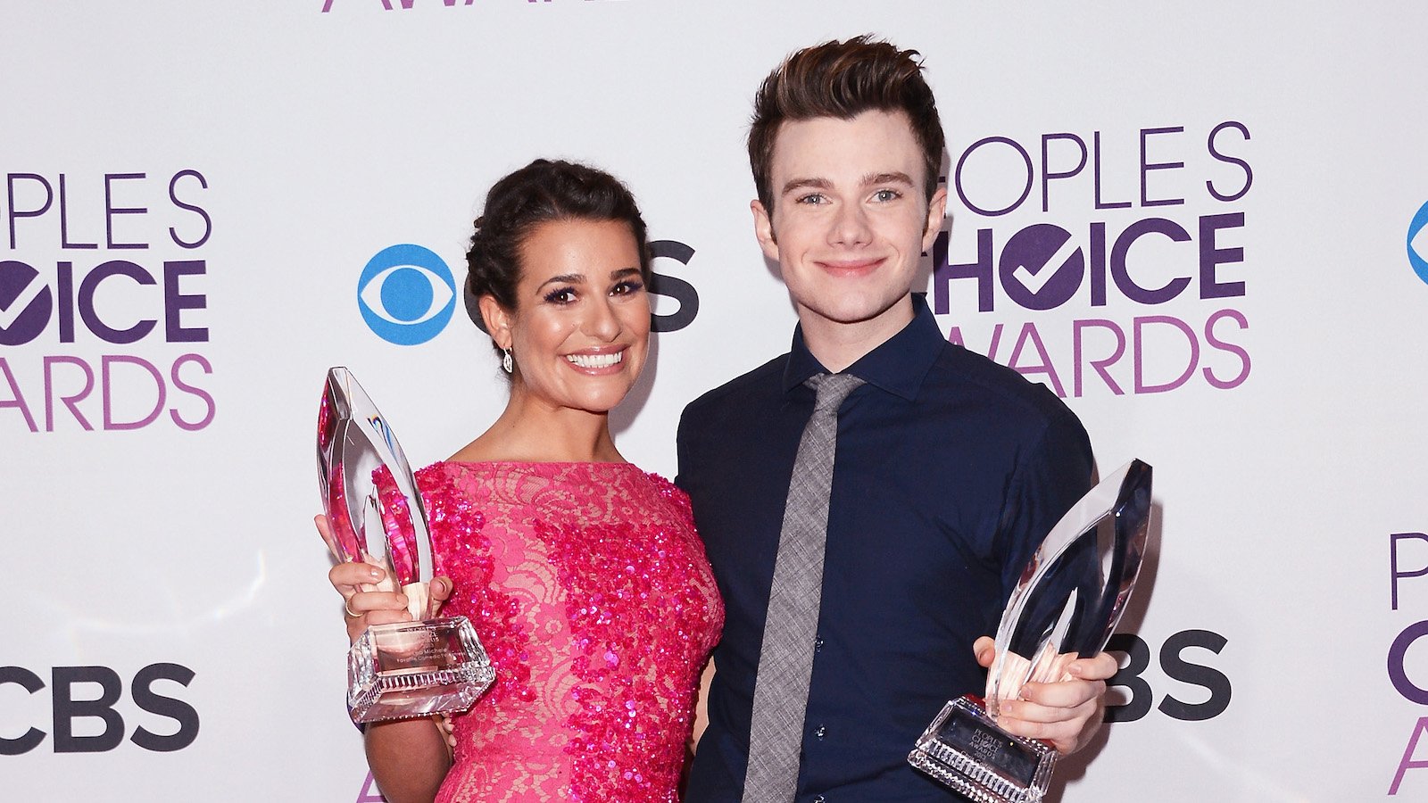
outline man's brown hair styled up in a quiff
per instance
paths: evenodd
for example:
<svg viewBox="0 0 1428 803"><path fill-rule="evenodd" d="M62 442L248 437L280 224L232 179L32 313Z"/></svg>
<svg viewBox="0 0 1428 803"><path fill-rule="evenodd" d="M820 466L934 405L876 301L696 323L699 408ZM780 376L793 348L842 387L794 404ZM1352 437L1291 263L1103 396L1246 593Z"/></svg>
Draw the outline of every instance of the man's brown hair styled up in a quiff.
<svg viewBox="0 0 1428 803"><path fill-rule="evenodd" d="M945 140L932 89L922 80L921 54L864 34L793 53L758 87L748 129L748 164L764 210L774 211L774 140L785 120L851 120L870 110L907 114L922 147L924 190L931 201Z"/></svg>

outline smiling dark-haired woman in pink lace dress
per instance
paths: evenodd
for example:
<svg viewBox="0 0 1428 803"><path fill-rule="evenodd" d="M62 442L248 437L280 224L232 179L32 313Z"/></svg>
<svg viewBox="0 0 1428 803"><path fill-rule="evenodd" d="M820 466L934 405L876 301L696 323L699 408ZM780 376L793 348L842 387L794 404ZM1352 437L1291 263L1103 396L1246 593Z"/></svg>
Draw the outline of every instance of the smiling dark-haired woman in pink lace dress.
<svg viewBox="0 0 1428 803"><path fill-rule="evenodd" d="M648 351L644 221L611 176L537 160L491 187L467 263L510 402L417 482L453 583L433 594L497 680L454 717L454 753L433 719L400 720L366 729L368 763L393 803L677 800L723 607L687 497L610 436ZM330 573L353 639L408 619L400 593L360 590L377 579Z"/></svg>

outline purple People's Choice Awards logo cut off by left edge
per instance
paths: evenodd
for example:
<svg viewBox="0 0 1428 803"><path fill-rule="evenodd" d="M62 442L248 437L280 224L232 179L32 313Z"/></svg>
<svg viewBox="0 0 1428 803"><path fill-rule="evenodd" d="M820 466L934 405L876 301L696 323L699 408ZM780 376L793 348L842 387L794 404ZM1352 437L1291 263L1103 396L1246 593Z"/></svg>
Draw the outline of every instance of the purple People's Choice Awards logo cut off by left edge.
<svg viewBox="0 0 1428 803"><path fill-rule="evenodd" d="M213 423L208 179L4 174L0 432Z"/></svg>

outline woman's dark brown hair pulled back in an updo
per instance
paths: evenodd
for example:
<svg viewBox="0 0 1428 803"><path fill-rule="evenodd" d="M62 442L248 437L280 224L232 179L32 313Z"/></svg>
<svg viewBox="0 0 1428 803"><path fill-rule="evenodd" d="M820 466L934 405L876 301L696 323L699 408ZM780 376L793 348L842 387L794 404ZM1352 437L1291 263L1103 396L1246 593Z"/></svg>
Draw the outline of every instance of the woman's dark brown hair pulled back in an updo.
<svg viewBox="0 0 1428 803"><path fill-rule="evenodd" d="M466 253L471 300L491 296L516 309L521 280L520 250L537 226L551 220L615 220L630 226L640 251L640 273L650 283L644 219L634 196L614 176L573 161L537 159L506 176L486 194ZM480 314L473 316L486 331ZM493 347L496 344L493 343ZM500 351L500 349L496 349Z"/></svg>

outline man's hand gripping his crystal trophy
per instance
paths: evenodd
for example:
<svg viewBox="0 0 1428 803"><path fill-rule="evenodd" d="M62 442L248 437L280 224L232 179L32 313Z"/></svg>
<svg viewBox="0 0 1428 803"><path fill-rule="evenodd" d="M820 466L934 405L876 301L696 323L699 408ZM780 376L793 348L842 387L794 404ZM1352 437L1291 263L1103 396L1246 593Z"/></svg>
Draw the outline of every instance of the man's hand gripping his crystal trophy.
<svg viewBox="0 0 1428 803"><path fill-rule="evenodd" d="M977 639L972 652L982 667L997 659L995 643L987 636ZM1027 683L1018 699L1001 700L997 724L1007 733L1050 742L1062 756L1075 753L1101 727L1105 682L1117 669L1105 653L1072 660L1061 682Z"/></svg>

